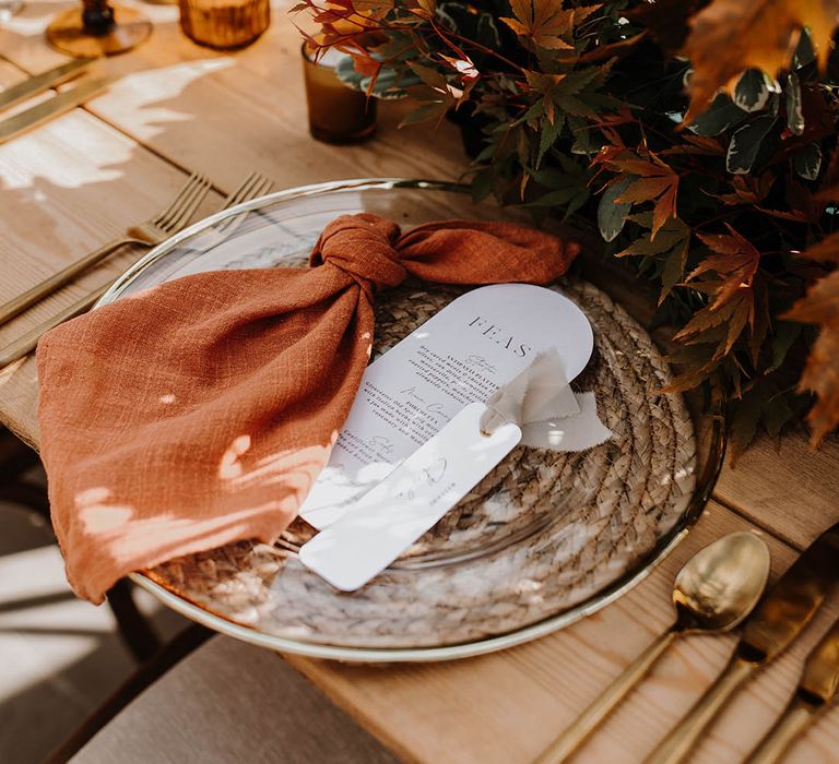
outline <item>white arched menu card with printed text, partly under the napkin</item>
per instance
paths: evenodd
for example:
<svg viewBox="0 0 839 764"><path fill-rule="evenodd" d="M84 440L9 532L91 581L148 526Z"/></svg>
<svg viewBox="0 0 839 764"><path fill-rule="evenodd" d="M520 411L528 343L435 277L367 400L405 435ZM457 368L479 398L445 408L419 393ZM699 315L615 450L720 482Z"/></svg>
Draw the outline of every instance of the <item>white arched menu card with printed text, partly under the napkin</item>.
<svg viewBox="0 0 839 764"><path fill-rule="evenodd" d="M584 313L553 289L500 284L453 300L367 367L300 516L318 529L334 523L465 406L484 403L551 347L568 382L593 347Z"/></svg>

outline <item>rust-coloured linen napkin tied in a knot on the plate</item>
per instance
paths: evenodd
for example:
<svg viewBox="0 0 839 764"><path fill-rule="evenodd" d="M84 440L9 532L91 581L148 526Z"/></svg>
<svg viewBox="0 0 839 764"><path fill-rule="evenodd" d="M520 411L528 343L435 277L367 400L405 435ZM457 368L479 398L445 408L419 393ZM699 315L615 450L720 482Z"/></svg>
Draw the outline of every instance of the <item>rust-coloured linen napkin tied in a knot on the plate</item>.
<svg viewBox="0 0 839 764"><path fill-rule="evenodd" d="M38 417L70 584L121 576L294 520L353 404L373 300L406 276L546 284L578 247L505 223L402 234L350 215L303 268L186 276L69 321L38 345Z"/></svg>

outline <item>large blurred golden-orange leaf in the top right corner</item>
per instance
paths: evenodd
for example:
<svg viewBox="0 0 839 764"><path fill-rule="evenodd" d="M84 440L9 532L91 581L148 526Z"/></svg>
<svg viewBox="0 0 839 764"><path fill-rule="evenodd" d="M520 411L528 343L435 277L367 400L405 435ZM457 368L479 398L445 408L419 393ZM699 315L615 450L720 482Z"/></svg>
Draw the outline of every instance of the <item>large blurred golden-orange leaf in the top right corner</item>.
<svg viewBox="0 0 839 764"><path fill-rule="evenodd" d="M790 62L805 26L824 67L835 25L834 0L712 0L694 16L682 49L694 67L685 122L690 123L719 88L731 92L746 69L776 76Z"/></svg>

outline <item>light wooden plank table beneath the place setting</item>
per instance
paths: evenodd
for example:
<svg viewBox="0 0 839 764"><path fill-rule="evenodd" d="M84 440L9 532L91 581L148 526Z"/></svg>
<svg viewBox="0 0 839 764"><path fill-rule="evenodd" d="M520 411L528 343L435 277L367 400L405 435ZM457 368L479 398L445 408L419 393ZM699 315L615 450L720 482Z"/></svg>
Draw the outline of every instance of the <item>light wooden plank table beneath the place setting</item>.
<svg viewBox="0 0 839 764"><path fill-rule="evenodd" d="M69 3L68 3L69 5ZM43 38L64 7L27 0L0 29L0 87L62 60ZM162 205L199 170L213 199L250 169L281 187L364 176L454 179L465 159L453 129L397 131L403 107L385 105L378 138L331 147L307 133L299 38L282 7L251 48L215 53L179 32L177 10L144 4L155 22L138 50L97 64L110 89L0 146L0 301L81 256ZM0 345L125 267L130 254L0 329ZM0 421L37 445L32 359L0 370ZM530 761L671 619L670 586L685 559L723 533L755 528L778 575L839 520L839 444L812 453L803 434L761 441L726 465L702 520L650 577L616 604L558 634L454 664L354 667L289 657L336 704L406 760ZM782 708L801 661L839 612L834 599L799 643L742 692L695 761L734 762ZM649 752L725 662L733 637L684 640L581 751L581 762L635 762ZM839 711L795 748L791 762L839 761Z"/></svg>

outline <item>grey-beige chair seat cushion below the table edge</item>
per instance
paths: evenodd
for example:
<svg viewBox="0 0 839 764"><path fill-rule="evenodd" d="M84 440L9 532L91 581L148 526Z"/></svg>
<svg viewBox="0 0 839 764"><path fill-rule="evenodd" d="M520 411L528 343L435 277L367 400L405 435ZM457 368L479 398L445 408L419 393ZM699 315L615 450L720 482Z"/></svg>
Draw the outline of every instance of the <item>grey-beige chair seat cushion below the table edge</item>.
<svg viewBox="0 0 839 764"><path fill-rule="evenodd" d="M215 636L132 701L73 764L394 764L279 655Z"/></svg>

